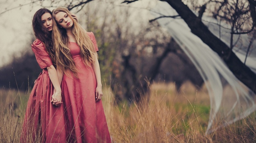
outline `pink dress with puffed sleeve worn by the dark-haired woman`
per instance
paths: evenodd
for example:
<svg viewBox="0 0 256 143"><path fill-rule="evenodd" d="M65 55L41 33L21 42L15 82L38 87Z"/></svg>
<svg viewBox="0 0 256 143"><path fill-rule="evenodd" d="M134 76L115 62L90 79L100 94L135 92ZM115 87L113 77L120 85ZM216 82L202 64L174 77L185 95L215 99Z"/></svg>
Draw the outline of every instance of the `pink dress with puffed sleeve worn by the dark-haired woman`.
<svg viewBox="0 0 256 143"><path fill-rule="evenodd" d="M65 143L63 105L56 107L50 103L54 88L46 67L53 65L52 60L40 40L36 39L31 47L43 71L30 93L20 143Z"/></svg>

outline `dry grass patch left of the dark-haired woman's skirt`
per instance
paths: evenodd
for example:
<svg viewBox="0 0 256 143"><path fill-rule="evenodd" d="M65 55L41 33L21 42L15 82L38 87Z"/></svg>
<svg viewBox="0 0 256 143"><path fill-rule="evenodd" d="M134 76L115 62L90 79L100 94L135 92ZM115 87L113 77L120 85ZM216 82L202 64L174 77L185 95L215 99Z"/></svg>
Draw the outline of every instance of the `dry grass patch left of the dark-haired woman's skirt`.
<svg viewBox="0 0 256 143"><path fill-rule="evenodd" d="M26 93L16 90L0 90L0 142L18 143L26 110ZM23 104L22 104L23 102Z"/></svg>

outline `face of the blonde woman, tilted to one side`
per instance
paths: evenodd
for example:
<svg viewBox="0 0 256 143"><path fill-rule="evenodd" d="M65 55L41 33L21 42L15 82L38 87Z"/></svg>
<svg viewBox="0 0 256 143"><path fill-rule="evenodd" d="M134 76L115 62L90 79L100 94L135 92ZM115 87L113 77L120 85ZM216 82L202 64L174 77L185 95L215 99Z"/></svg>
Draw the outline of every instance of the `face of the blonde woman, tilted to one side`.
<svg viewBox="0 0 256 143"><path fill-rule="evenodd" d="M55 15L57 23L65 29L69 29L73 26L73 20L65 12L58 12Z"/></svg>

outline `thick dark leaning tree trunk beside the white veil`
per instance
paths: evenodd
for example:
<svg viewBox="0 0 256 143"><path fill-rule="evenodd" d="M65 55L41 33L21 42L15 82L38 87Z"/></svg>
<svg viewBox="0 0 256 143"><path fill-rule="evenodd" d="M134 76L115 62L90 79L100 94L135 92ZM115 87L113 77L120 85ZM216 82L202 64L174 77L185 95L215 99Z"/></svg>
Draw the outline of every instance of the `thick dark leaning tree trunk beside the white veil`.
<svg viewBox="0 0 256 143"><path fill-rule="evenodd" d="M256 93L256 74L249 67L244 65L230 48L214 36L210 30L181 0L161 0L166 1L173 7L181 18L188 24L191 32L198 36L213 51L215 51L226 63L233 74L248 88Z"/></svg>

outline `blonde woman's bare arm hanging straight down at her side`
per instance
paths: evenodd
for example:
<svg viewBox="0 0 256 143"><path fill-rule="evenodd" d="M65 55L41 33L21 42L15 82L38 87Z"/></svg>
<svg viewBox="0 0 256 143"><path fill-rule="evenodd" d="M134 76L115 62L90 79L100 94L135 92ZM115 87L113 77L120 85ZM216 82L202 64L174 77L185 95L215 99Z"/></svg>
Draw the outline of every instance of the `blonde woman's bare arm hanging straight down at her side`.
<svg viewBox="0 0 256 143"><path fill-rule="evenodd" d="M94 74L96 77L96 81L97 81L97 87L95 90L95 98L96 101L101 100L102 97L102 84L101 84L101 70L99 68L99 61L98 61L98 57L95 57L95 62L93 64L93 70L94 70Z"/></svg>

